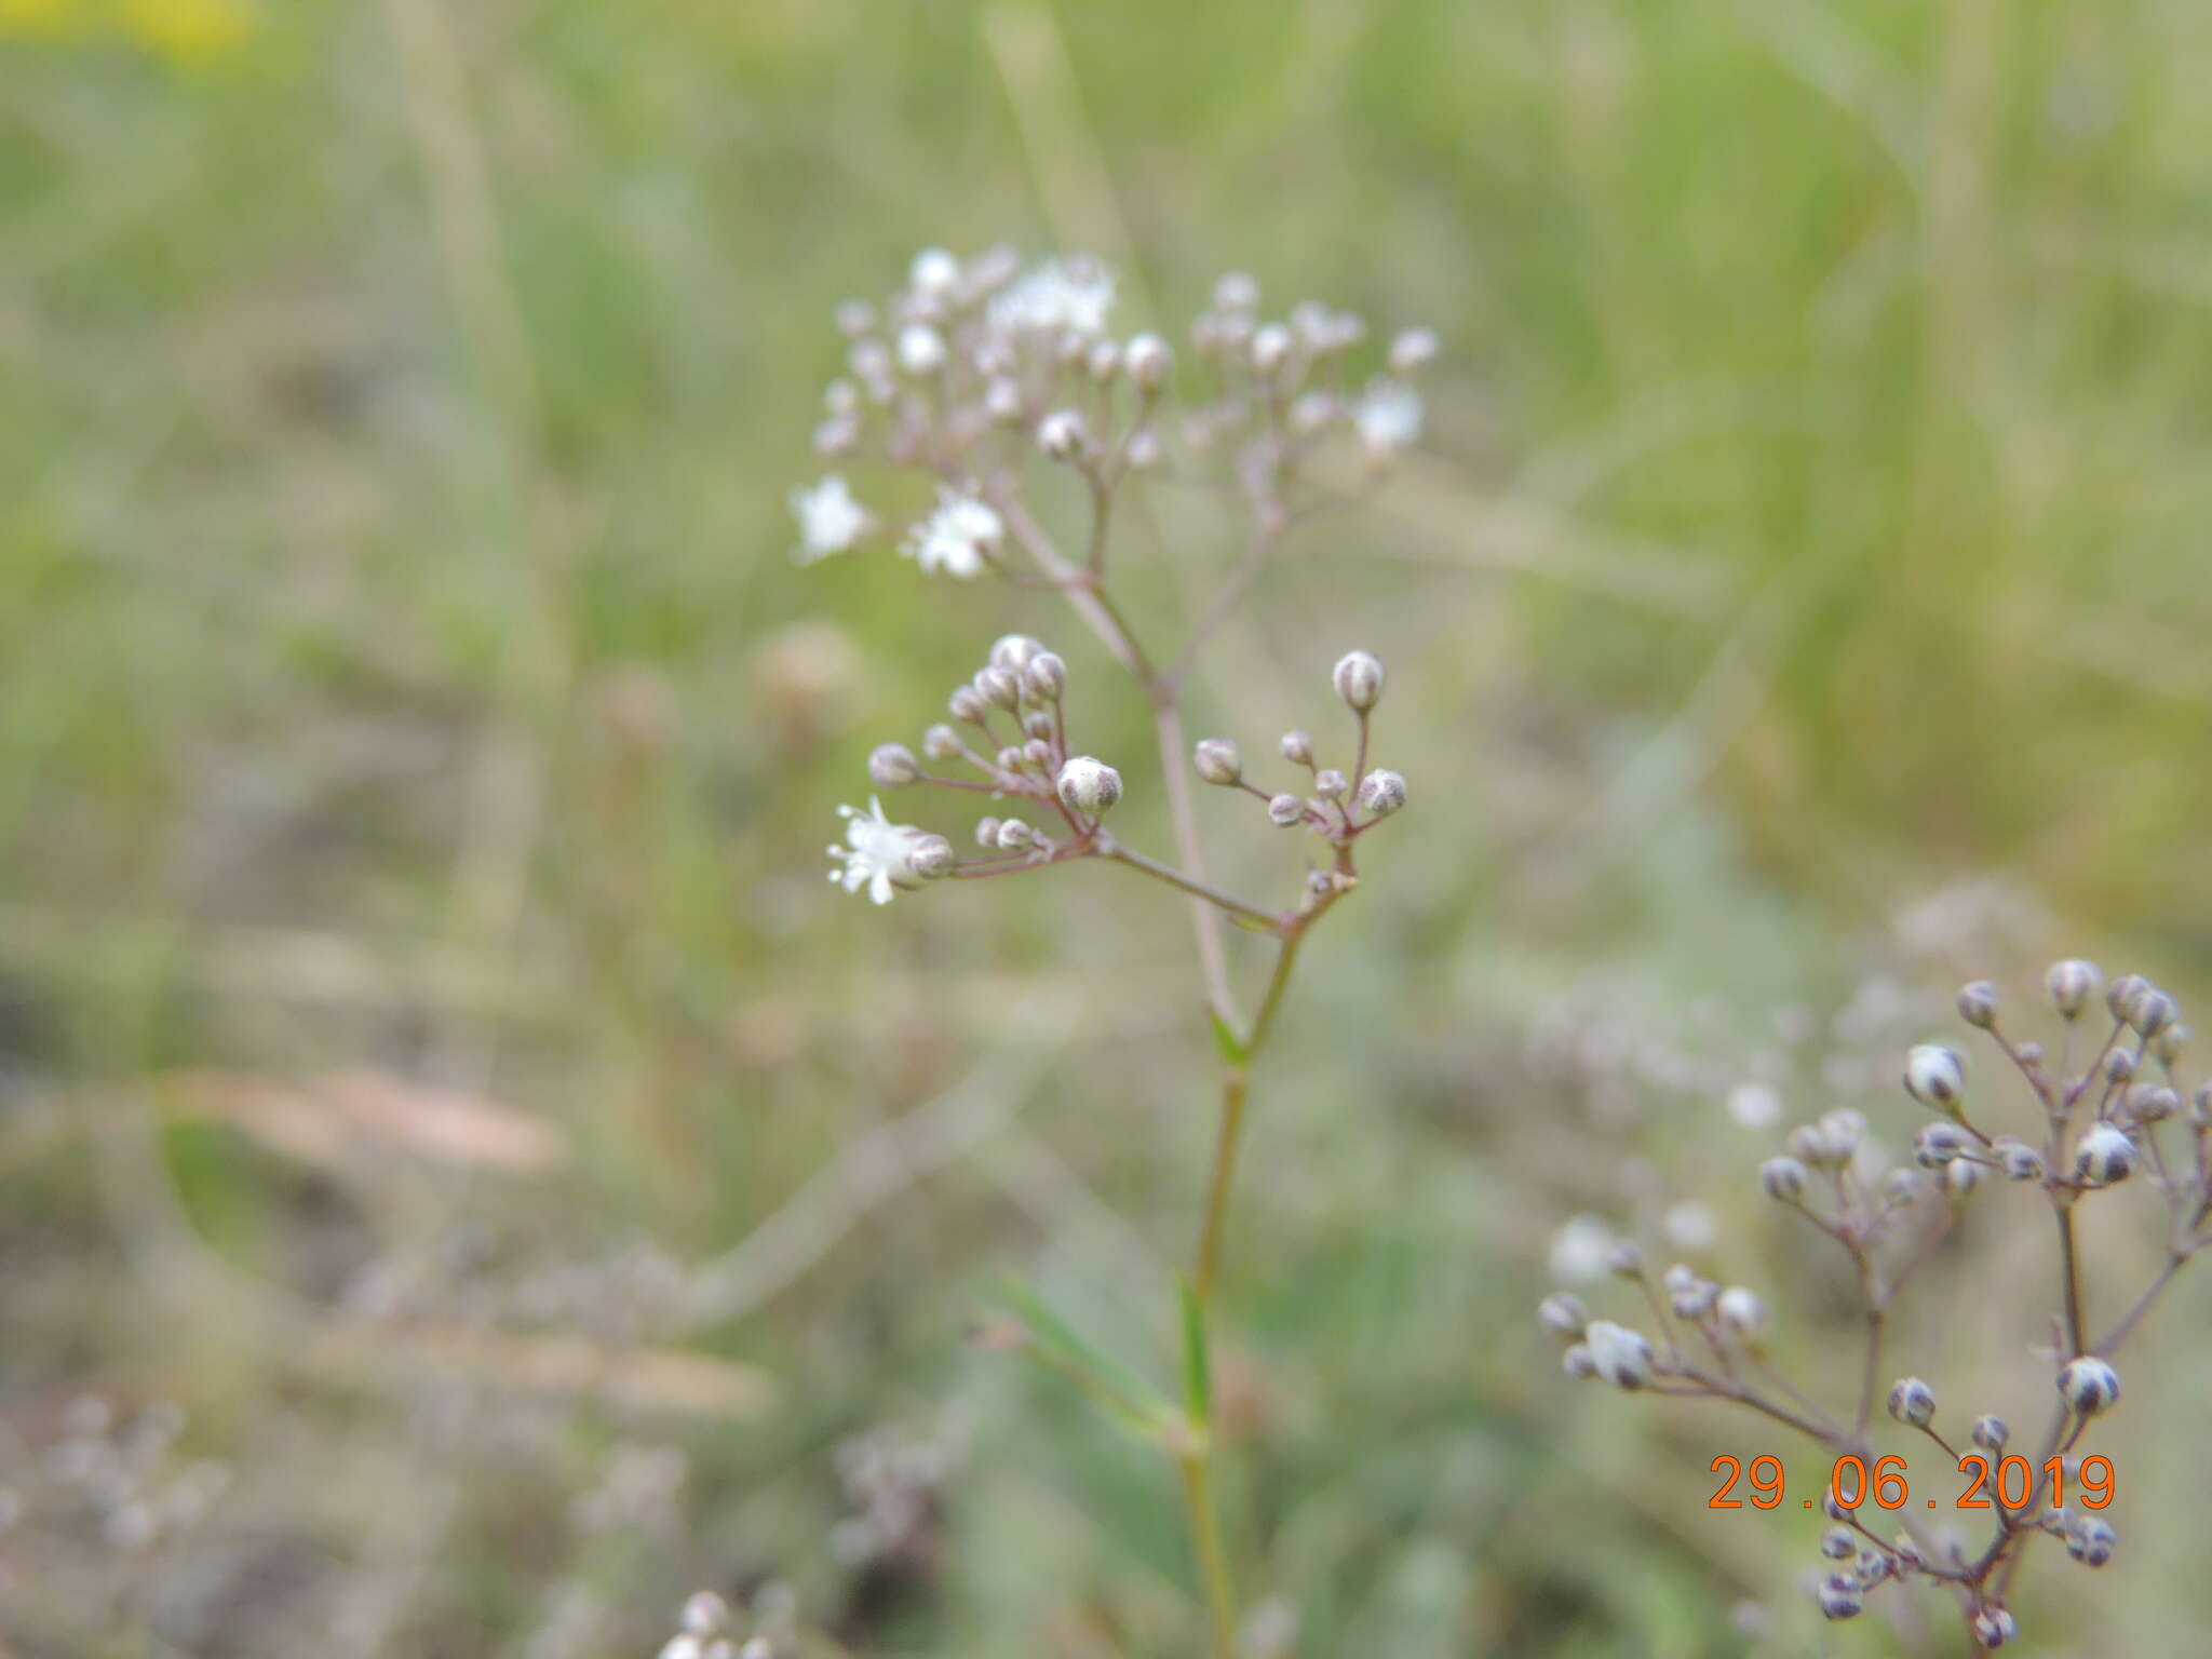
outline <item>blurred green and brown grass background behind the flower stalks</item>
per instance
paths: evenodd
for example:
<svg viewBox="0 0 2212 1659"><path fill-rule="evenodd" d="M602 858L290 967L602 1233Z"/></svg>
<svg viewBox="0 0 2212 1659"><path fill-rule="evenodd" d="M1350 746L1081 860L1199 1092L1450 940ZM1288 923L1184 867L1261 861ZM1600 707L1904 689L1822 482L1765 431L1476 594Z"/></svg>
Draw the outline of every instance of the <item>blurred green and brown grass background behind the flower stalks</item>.
<svg viewBox="0 0 2212 1659"><path fill-rule="evenodd" d="M0 2L0 1451L97 1387L243 1482L166 1577L24 1557L0 1644L555 1652L575 1597L626 1650L783 1577L860 1652L1188 1650L1164 1473L962 1343L1013 1267L1161 1349L1179 918L1093 872L872 914L818 863L874 741L1071 633L785 557L832 303L1013 239L1106 252L1130 327L1239 265L1449 343L1431 453L1201 688L1265 750L1374 646L1418 803L1263 1086L1248 1582L1312 1655L1721 1652L1778 1590L1816 1650L1809 1533L1701 1509L1732 1425L1548 1398L1535 1263L1626 1152L1526 1121L1522 1026L1717 998L1754 1051L1869 964L2057 947L2205 989L2208 73L2212 13L2150 0ZM1161 502L1139 606L1223 531ZM332 1141L365 1073L513 1117ZM502 1267L703 1261L823 1190L657 1349L726 1367L684 1385L509 1413L542 1349L332 1325L405 1283L495 1327ZM929 1557L841 1568L832 1447L945 1400ZM2183 1562L2203 1453L2137 1433ZM635 1444L688 1451L681 1526L564 1531ZM2208 1588L2121 1562L2104 1650L2174 1650Z"/></svg>

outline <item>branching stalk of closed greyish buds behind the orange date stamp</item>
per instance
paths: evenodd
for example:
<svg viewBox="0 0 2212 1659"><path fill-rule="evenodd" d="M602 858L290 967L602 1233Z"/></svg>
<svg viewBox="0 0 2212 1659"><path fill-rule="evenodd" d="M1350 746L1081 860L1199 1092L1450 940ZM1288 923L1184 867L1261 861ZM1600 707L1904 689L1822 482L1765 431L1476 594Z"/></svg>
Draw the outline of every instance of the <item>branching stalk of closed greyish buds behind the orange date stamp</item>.
<svg viewBox="0 0 2212 1659"><path fill-rule="evenodd" d="M2097 1513L2099 1480L2084 1455L2093 1422L2110 1411L2121 1391L2112 1360L2152 1312L2174 1276L2212 1248L2212 1082L2183 1099L2179 1057L2188 1029L2174 1000L2139 975L2104 984L2093 962L2055 962L2046 973L2051 1004L2062 1020L2059 1051L2020 1037L2000 1013L1997 989L1969 984L1958 995L1960 1018L1986 1033L2017 1073L2033 1104L2033 1135L1993 1133L1989 1119L1966 1108L1966 1066L1938 1044L1907 1055L1905 1088L1936 1113L1913 1137L1913 1164L1869 1179L1860 1164L1865 1119L1854 1110L1832 1110L1794 1128L1781 1155L1770 1157L1759 1181L1767 1197L1796 1210L1809 1225L1836 1241L1851 1263L1865 1312L1865 1354L1856 1400L1829 1407L1794 1387L1767 1360L1763 1334L1767 1310L1745 1287L1723 1290L1688 1265L1668 1267L1657 1281L1632 1241L1613 1245L1608 1267L1635 1283L1652 1318L1652 1334L1604 1318L1590 1318L1579 1298L1548 1296L1542 1323L1566 1347L1566 1369L1621 1389L1679 1398L1730 1400L1774 1422L1787 1425L1825 1447L1834 1458L1858 1458L1871 1471L1858 1475L1858 1498L1840 1502L1843 1478L1829 1486L1827 1515L1834 1526L1820 1551L1832 1571L1816 1599L1829 1619L1849 1619L1882 1584L1927 1579L1949 1590L1975 1650L2002 1648L2017 1637L2008 1608L2011 1586L2028 1546L2053 1535L2086 1566L2112 1557L2115 1533ZM2110 1020L2097 1020L2104 1011ZM2084 1035L2088 1031L2088 1035ZM2177 1137L2179 1146L2168 1146ZM2130 1179L2132 1177L2132 1179ZM1911 1274L1929 1261L1949 1232L1958 1208L1984 1183L2006 1181L2042 1194L2053 1219L2053 1314L2048 1380L2051 1422L2033 1455L2024 1495L2006 1500L1997 1478L1989 1478L1995 1513L1991 1537L1980 1551L1947 1546L1900 1509L1905 1531L1880 1537L1869 1526L1865 1500L1876 1511L1893 1509L1876 1489L1882 1460L1876 1458L1876 1398L1909 1436L1940 1447L1971 1471L1986 1469L2013 1444L1997 1416L1980 1416L1958 1438L1936 1425L1936 1391L1920 1376L1900 1376L1882 1391L1887 1376L1885 1336L1889 1312ZM2081 1283L2081 1250L2075 1217L2081 1203L2106 1203L2119 1188L2148 1188L2163 1212L2166 1261L2143 1292L2106 1325L2090 1316ZM2106 1462L2104 1502L2110 1502ZM2064 1502L2053 1480L2084 1493ZM2020 1484L2013 1486L2020 1493Z"/></svg>

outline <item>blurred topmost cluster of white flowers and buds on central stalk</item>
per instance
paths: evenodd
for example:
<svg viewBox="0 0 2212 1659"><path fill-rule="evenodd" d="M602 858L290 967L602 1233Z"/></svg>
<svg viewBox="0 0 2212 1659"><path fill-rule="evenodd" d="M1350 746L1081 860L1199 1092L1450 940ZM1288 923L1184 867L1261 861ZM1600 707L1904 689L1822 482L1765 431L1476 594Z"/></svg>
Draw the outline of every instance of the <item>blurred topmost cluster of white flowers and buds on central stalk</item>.
<svg viewBox="0 0 2212 1659"><path fill-rule="evenodd" d="M1159 416L1175 389L1175 347L1150 332L1110 332L1117 288L1086 254L1024 270L1006 248L973 259L929 248L883 303L838 307L845 374L823 394L814 447L938 480L936 507L900 535L925 573L969 580L1000 564L1006 518L993 480L1031 453L1077 469L1104 493L1161 467L1170 438L1206 451L1265 436L1285 469L1338 431L1376 465L1420 438L1413 376L1436 358L1436 334L1398 334L1387 372L1347 392L1367 323L1316 301L1263 321L1259 285L1243 274L1223 276L1190 327L1208 385L1190 387L1170 427ZM807 564L891 526L843 473L792 491L792 515Z"/></svg>

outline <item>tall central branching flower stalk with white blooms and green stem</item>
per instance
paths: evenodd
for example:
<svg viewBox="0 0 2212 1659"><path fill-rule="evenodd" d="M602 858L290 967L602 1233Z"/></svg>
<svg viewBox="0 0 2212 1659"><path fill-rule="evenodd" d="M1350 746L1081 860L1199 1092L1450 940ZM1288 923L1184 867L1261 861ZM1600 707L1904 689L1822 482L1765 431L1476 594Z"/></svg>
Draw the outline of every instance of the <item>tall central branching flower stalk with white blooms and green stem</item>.
<svg viewBox="0 0 2212 1659"><path fill-rule="evenodd" d="M900 553L927 575L998 577L1060 593L1106 655L1128 675L1150 714L1175 860L1126 843L1106 818L1124 796L1121 772L1086 754L1073 719L1066 661L1029 635L998 639L971 681L953 688L949 723L931 726L920 754L885 743L869 757L878 790L927 787L989 796L975 823L978 852L894 823L878 801L841 807L843 845L830 872L847 891L885 905L938 880L1033 876L1075 863L1110 863L1172 887L1188 900L1199 978L1223 1055L1197 1259L1183 1294L1186 1389L1179 1409L1141 1387L1108 1378L1079 1338L1035 1310L1040 1356L1068 1371L1124 1418L1137 1420L1175 1458L1190 1511L1212 1646L1237 1644L1237 1595L1212 1500L1212 1407L1206 1334L1223 1272L1237 1155L1250 1108L1252 1068L1276 1029L1307 933L1360 880L1363 838L1405 807L1398 772L1369 765L1369 726L1383 697L1383 664L1347 653L1334 690L1352 717L1352 765L1327 765L1305 732L1279 750L1296 787L1261 787L1245 776L1234 741L1194 748L1183 730L1183 692L1206 646L1248 597L1283 538L1332 500L1318 473L1349 449L1374 482L1394 453L1420 436L1422 403L1411 376L1436 354L1427 330L1400 334L1389 369L1349 387L1365 341L1360 319L1318 303L1265 321L1250 276L1223 276L1212 305L1190 327L1206 389L1177 403L1175 349L1157 334L1115 338L1106 319L1115 281L1097 261L1046 261L1020 270L1004 252L962 261L922 252L907 285L883 305L838 314L849 341L849 376L832 383L816 449L867 462L887 476L929 480L936 507L900 535ZM1031 498L1031 473L1073 471L1088 524L1062 540ZM1228 471L1250 520L1248 542L1172 655L1137 637L1113 575L1115 504L1146 473ZM794 491L801 562L845 553L885 535L889 520L865 507L841 473ZM1186 772L1190 768L1190 772ZM1314 841L1292 902L1239 896L1212 880L1199 838L1192 772L1230 796L1259 801L1270 823ZM1318 843L1318 845L1314 845ZM1272 945L1272 964L1250 1018L1241 1013L1228 953L1237 927Z"/></svg>

